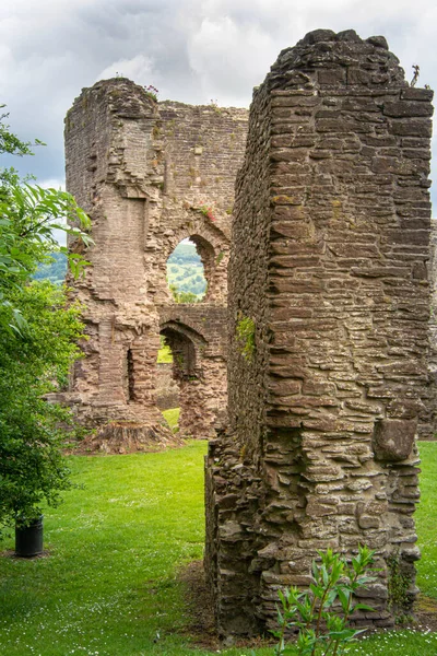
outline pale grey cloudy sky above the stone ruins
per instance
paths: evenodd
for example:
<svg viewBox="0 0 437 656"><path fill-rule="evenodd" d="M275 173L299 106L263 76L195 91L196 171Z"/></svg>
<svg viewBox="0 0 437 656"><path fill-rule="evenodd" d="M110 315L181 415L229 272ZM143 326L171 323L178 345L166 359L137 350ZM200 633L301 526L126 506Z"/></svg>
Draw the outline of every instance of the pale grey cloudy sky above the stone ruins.
<svg viewBox="0 0 437 656"><path fill-rule="evenodd" d="M15 165L62 184L63 117L102 78L153 84L160 99L249 106L280 50L318 27L383 34L406 78L418 65L417 86L437 89L435 0L3 1L0 103L15 133L47 143Z"/></svg>

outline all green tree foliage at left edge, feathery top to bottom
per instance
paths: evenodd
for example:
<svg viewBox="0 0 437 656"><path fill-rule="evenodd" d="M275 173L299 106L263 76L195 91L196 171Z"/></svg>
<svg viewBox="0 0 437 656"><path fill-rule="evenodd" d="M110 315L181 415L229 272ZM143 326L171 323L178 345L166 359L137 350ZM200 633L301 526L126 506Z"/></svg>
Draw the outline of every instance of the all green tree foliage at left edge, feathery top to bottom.
<svg viewBox="0 0 437 656"><path fill-rule="evenodd" d="M29 154L31 144L10 132L5 118L0 154ZM90 220L69 194L0 169L0 527L32 520L70 484L60 446L71 417L44 395L59 388L79 356L80 308L68 306L63 289L32 281L51 251L67 250L54 238L55 226L76 243L91 242ZM78 276L87 262L73 253L69 263Z"/></svg>

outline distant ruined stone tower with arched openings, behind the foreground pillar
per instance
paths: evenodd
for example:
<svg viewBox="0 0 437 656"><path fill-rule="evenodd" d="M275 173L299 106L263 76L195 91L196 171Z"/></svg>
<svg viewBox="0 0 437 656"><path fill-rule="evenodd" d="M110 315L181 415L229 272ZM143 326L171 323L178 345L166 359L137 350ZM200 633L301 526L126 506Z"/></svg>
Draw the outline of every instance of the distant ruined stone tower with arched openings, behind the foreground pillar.
<svg viewBox="0 0 437 656"><path fill-rule="evenodd" d="M210 436L226 405L231 215L246 132L245 109L157 103L122 78L84 89L67 115L67 188L90 213L95 242L92 267L73 281L88 341L69 402L108 448L172 438L155 405L160 333L175 353L181 433ZM186 237L208 280L196 305L175 304L166 282Z"/></svg>

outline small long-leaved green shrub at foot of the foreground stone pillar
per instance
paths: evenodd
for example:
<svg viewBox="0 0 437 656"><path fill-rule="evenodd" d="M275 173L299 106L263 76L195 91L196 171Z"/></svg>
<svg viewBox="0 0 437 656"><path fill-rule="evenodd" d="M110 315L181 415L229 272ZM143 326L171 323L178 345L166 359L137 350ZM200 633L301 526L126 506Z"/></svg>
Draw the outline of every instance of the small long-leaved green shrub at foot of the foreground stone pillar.
<svg viewBox="0 0 437 656"><path fill-rule="evenodd" d="M275 656L340 656L347 645L365 630L350 625L356 610L373 609L354 601L359 588L375 581L371 570L374 551L359 547L358 554L349 564L344 557L328 549L319 552L320 562L312 562L312 583L306 591L292 587L280 593L277 609L279 630ZM297 633L294 646L286 644L286 635Z"/></svg>

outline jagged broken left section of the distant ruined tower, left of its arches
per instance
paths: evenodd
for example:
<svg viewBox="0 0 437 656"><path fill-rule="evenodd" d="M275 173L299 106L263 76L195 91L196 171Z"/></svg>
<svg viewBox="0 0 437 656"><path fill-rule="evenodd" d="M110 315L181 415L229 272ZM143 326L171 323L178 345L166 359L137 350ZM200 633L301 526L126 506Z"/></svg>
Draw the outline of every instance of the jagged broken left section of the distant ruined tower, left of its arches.
<svg viewBox="0 0 437 656"><path fill-rule="evenodd" d="M88 341L68 400L108 450L175 442L155 403L158 313L144 263L162 207L157 120L153 98L123 79L83 90L66 118L67 188L92 216L94 239L91 267L72 281Z"/></svg>

